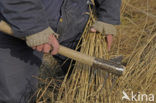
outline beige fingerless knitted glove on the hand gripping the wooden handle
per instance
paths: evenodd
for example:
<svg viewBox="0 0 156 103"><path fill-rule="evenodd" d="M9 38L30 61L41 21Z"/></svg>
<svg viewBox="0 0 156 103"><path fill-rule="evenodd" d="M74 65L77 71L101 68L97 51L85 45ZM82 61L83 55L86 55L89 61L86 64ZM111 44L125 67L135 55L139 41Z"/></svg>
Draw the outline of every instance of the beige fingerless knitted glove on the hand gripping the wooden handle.
<svg viewBox="0 0 156 103"><path fill-rule="evenodd" d="M41 32L27 36L26 43L29 47L45 44L48 43L50 35L58 36L57 33L55 33L50 27L48 27Z"/></svg>

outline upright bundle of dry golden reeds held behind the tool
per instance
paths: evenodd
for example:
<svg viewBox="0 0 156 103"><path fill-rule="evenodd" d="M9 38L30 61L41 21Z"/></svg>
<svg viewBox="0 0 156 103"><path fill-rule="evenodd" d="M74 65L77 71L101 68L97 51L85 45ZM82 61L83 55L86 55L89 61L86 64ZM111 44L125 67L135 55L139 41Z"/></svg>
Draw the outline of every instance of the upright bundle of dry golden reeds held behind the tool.
<svg viewBox="0 0 156 103"><path fill-rule="evenodd" d="M81 48L80 52L90 56L109 59L105 36L90 32L94 20L93 12L90 12L90 19L80 40L82 42L78 44L77 49ZM118 78L79 62L74 65L70 78L67 77L68 74L59 90L57 102L108 103L111 101L110 94Z"/></svg>

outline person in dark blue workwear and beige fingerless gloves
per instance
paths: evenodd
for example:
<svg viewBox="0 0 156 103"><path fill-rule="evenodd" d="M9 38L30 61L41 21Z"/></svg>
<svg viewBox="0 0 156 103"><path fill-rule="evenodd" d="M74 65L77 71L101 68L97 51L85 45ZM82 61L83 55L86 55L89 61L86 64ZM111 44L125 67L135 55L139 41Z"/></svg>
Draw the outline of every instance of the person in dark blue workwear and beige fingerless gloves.
<svg viewBox="0 0 156 103"><path fill-rule="evenodd" d="M89 18L88 2L0 0L0 20L13 32L12 36L0 32L0 103L28 103L37 89L33 76L38 75L43 53L51 52L59 63L66 59L57 54L59 45L75 48ZM120 24L121 0L95 0L95 4L97 21L91 31L106 34L110 50L116 33L113 25Z"/></svg>

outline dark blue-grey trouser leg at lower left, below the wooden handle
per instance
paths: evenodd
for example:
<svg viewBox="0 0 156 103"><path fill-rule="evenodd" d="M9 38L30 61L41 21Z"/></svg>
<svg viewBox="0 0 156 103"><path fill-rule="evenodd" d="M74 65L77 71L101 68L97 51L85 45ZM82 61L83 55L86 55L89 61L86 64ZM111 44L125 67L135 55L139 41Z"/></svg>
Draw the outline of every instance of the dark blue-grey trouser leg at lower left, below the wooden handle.
<svg viewBox="0 0 156 103"><path fill-rule="evenodd" d="M28 103L37 89L42 54L0 33L0 103Z"/></svg>

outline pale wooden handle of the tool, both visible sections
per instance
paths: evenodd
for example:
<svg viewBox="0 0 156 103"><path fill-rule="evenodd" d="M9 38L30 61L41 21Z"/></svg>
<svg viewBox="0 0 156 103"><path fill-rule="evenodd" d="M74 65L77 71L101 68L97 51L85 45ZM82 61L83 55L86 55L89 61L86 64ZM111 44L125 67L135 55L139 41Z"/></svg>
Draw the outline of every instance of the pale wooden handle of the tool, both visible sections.
<svg viewBox="0 0 156 103"><path fill-rule="evenodd" d="M13 34L11 27L5 21L0 22L0 31L2 31L6 34L9 34L9 35ZM87 56L85 54L74 51L74 50L69 49L67 47L60 45L58 53L65 56L65 57L79 61L81 63L93 65L94 57Z"/></svg>

